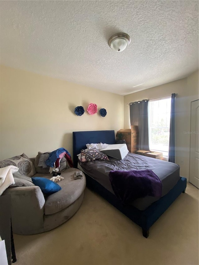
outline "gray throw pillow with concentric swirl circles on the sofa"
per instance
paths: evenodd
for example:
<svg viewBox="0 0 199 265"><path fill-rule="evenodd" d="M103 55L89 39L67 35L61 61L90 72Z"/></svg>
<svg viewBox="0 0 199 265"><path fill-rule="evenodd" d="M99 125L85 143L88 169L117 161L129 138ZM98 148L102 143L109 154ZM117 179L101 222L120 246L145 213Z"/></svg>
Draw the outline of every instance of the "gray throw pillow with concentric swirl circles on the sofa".
<svg viewBox="0 0 199 265"><path fill-rule="evenodd" d="M19 171L13 174L14 177L26 176L31 177L36 174L35 167L25 153L19 156L8 158L0 161L0 168L7 166L15 166L19 168Z"/></svg>

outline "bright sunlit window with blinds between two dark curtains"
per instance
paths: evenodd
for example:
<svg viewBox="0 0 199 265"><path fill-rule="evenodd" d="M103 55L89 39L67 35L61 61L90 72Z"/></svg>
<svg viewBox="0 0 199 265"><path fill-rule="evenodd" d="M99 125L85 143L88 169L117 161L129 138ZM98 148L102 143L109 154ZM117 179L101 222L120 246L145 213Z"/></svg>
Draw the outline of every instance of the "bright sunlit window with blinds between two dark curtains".
<svg viewBox="0 0 199 265"><path fill-rule="evenodd" d="M149 101L149 148L168 158L171 97Z"/></svg>

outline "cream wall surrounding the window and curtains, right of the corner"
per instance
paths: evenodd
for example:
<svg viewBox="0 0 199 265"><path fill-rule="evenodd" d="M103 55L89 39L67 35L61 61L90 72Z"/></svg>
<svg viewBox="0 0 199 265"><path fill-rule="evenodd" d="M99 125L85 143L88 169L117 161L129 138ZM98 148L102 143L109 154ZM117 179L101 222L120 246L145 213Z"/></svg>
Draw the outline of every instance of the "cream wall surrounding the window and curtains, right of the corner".
<svg viewBox="0 0 199 265"><path fill-rule="evenodd" d="M181 176L185 176L189 180L190 135L183 132L190 131L191 101L199 98L198 71L187 78L124 96L124 128L130 128L129 106L127 106L127 103L145 98L164 97L172 93L178 93L175 105L176 163L180 165Z"/></svg>

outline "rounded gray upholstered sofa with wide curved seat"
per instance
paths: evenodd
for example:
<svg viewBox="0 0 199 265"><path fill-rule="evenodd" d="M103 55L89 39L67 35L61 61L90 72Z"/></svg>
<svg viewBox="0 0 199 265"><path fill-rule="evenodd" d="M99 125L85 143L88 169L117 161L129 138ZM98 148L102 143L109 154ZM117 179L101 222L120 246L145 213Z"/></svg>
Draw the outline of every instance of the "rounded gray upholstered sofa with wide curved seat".
<svg viewBox="0 0 199 265"><path fill-rule="evenodd" d="M35 164L35 158L30 159ZM33 169L34 170L34 169ZM56 193L45 195L31 178L20 179L21 186L10 186L4 194L12 198L12 229L20 235L32 235L49 231L66 222L79 209L84 197L86 178L74 179L76 168L68 168L61 172L63 180L58 182L62 187ZM36 173L50 179L50 173Z"/></svg>

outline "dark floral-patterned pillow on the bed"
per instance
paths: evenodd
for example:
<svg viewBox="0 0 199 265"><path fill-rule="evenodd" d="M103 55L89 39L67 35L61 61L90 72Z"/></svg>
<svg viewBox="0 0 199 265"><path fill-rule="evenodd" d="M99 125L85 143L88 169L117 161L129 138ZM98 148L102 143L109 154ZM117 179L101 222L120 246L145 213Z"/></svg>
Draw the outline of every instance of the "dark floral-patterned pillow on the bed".
<svg viewBox="0 0 199 265"><path fill-rule="evenodd" d="M78 159L79 164L86 164L90 161L109 160L108 156L97 150L81 150L81 157Z"/></svg>

